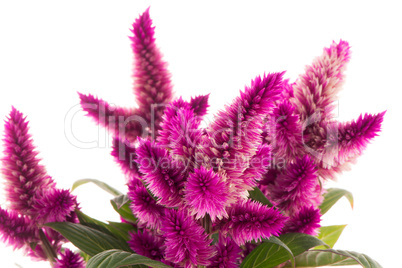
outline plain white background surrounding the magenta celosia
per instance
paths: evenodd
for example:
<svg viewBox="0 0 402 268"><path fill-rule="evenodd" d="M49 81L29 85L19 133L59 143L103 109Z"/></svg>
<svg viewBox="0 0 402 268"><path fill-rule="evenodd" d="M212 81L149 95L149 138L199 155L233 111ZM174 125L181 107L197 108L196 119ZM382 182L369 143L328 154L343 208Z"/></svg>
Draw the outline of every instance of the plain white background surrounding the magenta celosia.
<svg viewBox="0 0 402 268"><path fill-rule="evenodd" d="M323 224L348 224L336 248L398 267L402 19L397 1L166 2L0 2L0 117L11 105L28 115L42 163L59 187L96 178L125 191L109 153L110 137L79 111L76 92L135 105L127 36L148 6L176 95L211 93L210 118L256 75L287 70L294 80L332 40L343 39L352 47L352 59L339 96L339 120L387 113L381 136L352 171L331 184L354 194L354 210L339 202ZM96 186L75 193L85 213L118 220L111 196ZM0 260L7 268L48 267L3 245Z"/></svg>

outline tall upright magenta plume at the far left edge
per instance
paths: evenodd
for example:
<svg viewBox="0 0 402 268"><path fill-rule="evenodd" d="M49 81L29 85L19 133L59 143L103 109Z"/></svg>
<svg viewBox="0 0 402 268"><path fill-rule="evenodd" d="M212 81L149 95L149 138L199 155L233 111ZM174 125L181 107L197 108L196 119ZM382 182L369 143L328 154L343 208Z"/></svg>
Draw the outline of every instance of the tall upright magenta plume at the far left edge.
<svg viewBox="0 0 402 268"><path fill-rule="evenodd" d="M31 214L36 193L54 186L45 168L39 164L26 117L14 107L5 122L4 157L1 172L10 208Z"/></svg>

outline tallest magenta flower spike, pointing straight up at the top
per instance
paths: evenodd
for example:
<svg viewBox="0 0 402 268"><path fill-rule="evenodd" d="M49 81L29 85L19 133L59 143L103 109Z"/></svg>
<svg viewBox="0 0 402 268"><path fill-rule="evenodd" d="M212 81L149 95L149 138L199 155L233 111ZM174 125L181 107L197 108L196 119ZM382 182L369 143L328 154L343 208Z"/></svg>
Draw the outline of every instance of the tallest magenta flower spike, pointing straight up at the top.
<svg viewBox="0 0 402 268"><path fill-rule="evenodd" d="M165 104L172 98L170 73L166 62L155 45L155 28L149 16L149 8L133 24L131 48L134 53L134 94L139 105L139 114L151 122L155 130ZM152 117L152 114L154 115Z"/></svg>

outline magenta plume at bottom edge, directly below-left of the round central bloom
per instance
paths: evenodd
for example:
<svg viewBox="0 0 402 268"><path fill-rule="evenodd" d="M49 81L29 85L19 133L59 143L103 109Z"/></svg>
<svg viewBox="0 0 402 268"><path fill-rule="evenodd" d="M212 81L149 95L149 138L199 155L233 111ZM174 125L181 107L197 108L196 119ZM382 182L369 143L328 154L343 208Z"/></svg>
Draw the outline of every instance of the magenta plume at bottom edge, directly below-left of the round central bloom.
<svg viewBox="0 0 402 268"><path fill-rule="evenodd" d="M215 255L212 239L185 210L168 210L163 219L162 232L166 238L166 260L184 267L209 265Z"/></svg>

